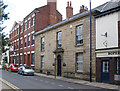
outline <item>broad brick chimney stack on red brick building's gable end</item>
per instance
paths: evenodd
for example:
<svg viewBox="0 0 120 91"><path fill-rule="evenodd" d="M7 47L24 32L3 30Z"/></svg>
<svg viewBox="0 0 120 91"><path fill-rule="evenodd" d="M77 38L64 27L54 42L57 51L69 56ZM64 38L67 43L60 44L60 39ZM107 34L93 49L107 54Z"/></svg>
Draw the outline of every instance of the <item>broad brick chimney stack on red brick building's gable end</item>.
<svg viewBox="0 0 120 91"><path fill-rule="evenodd" d="M49 24L53 25L57 23L57 0L47 0L47 5L49 7Z"/></svg>

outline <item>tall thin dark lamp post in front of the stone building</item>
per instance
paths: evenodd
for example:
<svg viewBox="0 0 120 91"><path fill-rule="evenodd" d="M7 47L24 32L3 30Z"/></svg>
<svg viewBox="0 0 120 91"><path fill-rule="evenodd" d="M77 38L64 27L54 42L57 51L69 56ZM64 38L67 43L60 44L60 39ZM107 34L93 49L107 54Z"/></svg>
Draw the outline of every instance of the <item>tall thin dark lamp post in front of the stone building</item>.
<svg viewBox="0 0 120 91"><path fill-rule="evenodd" d="M92 19L91 19L91 0L90 0L90 82L92 82Z"/></svg>

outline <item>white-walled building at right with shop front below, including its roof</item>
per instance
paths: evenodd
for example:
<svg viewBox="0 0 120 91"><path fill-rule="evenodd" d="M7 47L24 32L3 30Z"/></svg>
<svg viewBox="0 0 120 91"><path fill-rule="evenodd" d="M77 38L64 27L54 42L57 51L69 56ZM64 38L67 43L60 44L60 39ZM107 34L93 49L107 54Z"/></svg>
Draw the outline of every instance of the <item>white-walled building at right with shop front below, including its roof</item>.
<svg viewBox="0 0 120 91"><path fill-rule="evenodd" d="M96 81L120 84L120 2L96 16Z"/></svg>

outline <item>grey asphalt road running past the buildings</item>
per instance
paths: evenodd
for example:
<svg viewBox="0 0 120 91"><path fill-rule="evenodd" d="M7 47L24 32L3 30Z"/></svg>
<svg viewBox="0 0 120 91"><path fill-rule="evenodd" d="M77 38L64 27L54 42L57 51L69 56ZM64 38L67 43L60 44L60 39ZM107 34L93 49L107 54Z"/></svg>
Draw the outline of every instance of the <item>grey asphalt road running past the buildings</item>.
<svg viewBox="0 0 120 91"><path fill-rule="evenodd" d="M22 76L15 72L2 70L2 79L15 85L20 89L91 89L91 91L106 91L105 89L65 82L57 79L51 79L41 76ZM93 90L94 89L94 90Z"/></svg>

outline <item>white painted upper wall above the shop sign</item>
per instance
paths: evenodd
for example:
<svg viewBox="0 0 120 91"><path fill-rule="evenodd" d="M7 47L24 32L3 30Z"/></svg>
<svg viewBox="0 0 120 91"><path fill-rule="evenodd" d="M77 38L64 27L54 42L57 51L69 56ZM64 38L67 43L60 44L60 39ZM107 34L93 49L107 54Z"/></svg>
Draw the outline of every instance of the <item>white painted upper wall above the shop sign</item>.
<svg viewBox="0 0 120 91"><path fill-rule="evenodd" d="M107 37L101 36L107 32ZM103 43L106 41L107 46ZM96 49L118 47L118 12L96 19Z"/></svg>

